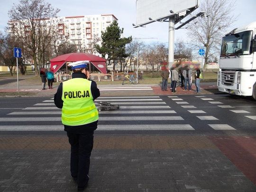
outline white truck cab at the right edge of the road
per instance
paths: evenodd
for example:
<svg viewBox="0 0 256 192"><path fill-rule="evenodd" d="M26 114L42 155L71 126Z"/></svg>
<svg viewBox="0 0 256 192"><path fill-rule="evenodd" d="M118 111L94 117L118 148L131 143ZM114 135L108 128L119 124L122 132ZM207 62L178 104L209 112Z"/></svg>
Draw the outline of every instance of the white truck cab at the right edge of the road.
<svg viewBox="0 0 256 192"><path fill-rule="evenodd" d="M236 28L222 38L218 89L256 100L256 22Z"/></svg>

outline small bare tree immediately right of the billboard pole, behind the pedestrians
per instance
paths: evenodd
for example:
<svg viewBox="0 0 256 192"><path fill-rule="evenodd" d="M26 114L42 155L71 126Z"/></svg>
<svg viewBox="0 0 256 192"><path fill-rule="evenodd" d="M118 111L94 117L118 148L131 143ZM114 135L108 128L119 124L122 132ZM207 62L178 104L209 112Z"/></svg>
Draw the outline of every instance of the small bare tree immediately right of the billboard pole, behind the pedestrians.
<svg viewBox="0 0 256 192"><path fill-rule="evenodd" d="M177 62L192 60L192 49L181 39L177 39L174 43L174 59Z"/></svg>

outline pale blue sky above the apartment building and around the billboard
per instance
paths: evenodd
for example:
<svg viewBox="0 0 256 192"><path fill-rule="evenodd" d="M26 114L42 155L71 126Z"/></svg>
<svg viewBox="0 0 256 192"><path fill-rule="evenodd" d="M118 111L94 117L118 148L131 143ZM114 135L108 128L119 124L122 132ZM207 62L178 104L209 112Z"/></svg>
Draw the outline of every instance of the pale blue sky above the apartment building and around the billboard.
<svg viewBox="0 0 256 192"><path fill-rule="evenodd" d="M104 15L113 14L118 18L120 28L124 28L124 36L132 35L133 38L144 42L163 42L168 44L168 22L155 22L146 27L133 28L136 24L136 0L46 0L54 8L59 8L59 17L83 16L83 15ZM233 1L233 0L226 0ZM159 0L161 2L161 0ZM9 20L8 11L19 0L1 0L0 9L0 31L4 31ZM237 0L234 15L239 15L238 20L228 29L231 31L238 26L247 25L256 21L256 0ZM186 20L186 19L184 19ZM184 21L183 20L183 21ZM178 26L179 24L175 25ZM186 29L175 30L174 39L183 39L189 42L189 35Z"/></svg>

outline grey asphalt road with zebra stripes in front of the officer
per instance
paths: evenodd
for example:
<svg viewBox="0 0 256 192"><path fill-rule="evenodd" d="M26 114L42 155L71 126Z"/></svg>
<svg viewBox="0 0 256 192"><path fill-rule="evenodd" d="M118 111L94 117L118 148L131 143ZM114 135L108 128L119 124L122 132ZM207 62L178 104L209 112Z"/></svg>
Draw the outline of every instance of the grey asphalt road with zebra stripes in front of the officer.
<svg viewBox="0 0 256 192"><path fill-rule="evenodd" d="M256 130L256 101L249 97L209 94L100 97L96 101L120 105L120 109L100 111L100 134L255 134ZM61 110L49 97L0 98L0 127L4 132L62 131Z"/></svg>

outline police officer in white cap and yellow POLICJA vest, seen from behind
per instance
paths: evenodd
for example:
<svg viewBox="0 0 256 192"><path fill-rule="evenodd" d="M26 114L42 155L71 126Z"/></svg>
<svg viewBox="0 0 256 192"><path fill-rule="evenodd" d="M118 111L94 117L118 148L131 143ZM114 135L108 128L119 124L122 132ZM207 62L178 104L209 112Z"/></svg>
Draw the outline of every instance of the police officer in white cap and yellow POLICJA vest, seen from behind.
<svg viewBox="0 0 256 192"><path fill-rule="evenodd" d="M93 133L99 119L94 100L100 96L100 91L94 81L87 80L88 63L69 64L72 79L60 83L54 96L56 107L62 109L61 119L71 145L70 171L77 181L78 191L83 191L89 181Z"/></svg>

